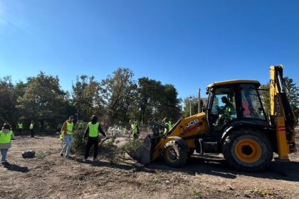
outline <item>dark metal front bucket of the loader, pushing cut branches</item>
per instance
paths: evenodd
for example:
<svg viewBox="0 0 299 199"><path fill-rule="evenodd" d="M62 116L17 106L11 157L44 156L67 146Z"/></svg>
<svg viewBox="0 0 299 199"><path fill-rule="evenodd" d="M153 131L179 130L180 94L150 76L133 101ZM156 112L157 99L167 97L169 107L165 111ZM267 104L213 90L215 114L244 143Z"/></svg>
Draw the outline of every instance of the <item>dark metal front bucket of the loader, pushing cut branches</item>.
<svg viewBox="0 0 299 199"><path fill-rule="evenodd" d="M143 145L129 155L143 165L150 163L152 161L152 139L150 136L146 136Z"/></svg>

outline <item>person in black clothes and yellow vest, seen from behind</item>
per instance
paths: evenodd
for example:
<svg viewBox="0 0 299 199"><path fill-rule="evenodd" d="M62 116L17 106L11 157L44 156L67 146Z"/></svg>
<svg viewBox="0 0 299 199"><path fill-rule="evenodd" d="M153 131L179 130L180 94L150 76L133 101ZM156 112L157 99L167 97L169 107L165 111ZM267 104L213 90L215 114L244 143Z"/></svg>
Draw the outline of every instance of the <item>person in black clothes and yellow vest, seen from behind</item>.
<svg viewBox="0 0 299 199"><path fill-rule="evenodd" d="M93 161L98 161L98 145L99 145L99 131L103 136L106 136L102 127L100 127L100 123L98 122L98 117L93 115L91 122L88 123L86 127L85 134L83 136L83 140L88 137L88 143L86 145L85 156L83 162L86 162L88 159L89 151L93 146Z"/></svg>

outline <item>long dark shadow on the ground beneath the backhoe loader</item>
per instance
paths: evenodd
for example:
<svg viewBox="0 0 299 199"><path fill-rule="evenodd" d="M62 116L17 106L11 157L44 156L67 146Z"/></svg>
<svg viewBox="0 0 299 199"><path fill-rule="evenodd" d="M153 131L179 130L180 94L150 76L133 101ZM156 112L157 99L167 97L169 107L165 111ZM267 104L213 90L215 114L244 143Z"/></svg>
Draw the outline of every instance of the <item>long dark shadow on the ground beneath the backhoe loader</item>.
<svg viewBox="0 0 299 199"><path fill-rule="evenodd" d="M83 163L82 158L73 158L74 161ZM159 171L182 172L195 176L206 174L219 176L221 178L234 179L237 176L251 176L256 178L276 179L283 181L299 182L299 162L276 162L271 161L265 171L258 173L244 173L230 168L223 158L216 156L192 156L182 168L172 168L167 166L162 158L148 164L147 166L138 166L135 163L109 163L107 161L93 162L86 164L98 167L118 168L125 171L134 170L135 172L157 173Z"/></svg>

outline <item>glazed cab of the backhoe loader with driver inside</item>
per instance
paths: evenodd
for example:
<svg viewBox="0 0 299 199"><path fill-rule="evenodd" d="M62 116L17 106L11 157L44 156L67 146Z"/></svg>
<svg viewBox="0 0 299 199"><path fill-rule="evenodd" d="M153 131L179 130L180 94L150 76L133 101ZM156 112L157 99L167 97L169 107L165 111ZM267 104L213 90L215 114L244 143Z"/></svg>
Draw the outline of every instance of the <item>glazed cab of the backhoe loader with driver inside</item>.
<svg viewBox="0 0 299 199"><path fill-rule="evenodd" d="M206 120L210 134L223 134L240 122L268 125L258 87L260 83L253 80L229 80L209 85L206 88L209 95Z"/></svg>

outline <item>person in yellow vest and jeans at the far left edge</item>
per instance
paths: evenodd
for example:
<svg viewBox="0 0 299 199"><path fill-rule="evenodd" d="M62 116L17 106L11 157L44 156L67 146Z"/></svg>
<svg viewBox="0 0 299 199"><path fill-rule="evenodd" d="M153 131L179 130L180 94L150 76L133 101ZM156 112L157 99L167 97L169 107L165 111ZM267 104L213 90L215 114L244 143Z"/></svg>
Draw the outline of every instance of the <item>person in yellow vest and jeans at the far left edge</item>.
<svg viewBox="0 0 299 199"><path fill-rule="evenodd" d="M0 151L1 151L1 163L6 164L7 152L11 148L11 139L14 139L14 132L11 131L9 124L4 124L4 127L0 131Z"/></svg>

